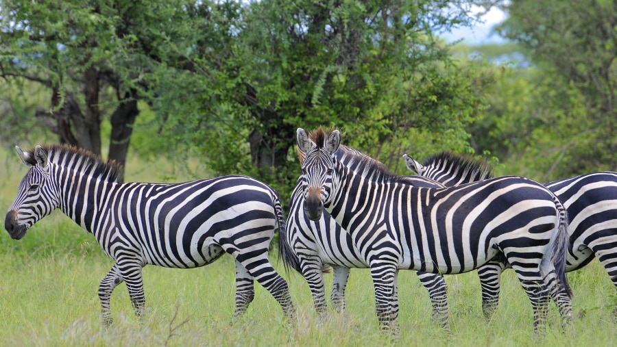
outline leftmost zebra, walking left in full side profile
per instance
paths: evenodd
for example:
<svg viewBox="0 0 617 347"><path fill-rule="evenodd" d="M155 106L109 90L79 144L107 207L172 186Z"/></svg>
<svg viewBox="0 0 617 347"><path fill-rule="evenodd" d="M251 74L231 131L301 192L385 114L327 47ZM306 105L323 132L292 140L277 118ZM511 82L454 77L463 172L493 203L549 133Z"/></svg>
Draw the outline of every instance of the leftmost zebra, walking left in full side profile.
<svg viewBox="0 0 617 347"><path fill-rule="evenodd" d="M196 268L233 255L234 318L254 298L254 279L295 316L285 279L271 266L268 247L285 229L278 194L251 177L230 175L186 183L119 183L120 167L73 146L37 145L16 151L29 170L5 218L20 240L34 223L59 208L92 233L115 263L99 285L104 324L112 324L110 296L126 283L136 315L143 315L146 265Z"/></svg>

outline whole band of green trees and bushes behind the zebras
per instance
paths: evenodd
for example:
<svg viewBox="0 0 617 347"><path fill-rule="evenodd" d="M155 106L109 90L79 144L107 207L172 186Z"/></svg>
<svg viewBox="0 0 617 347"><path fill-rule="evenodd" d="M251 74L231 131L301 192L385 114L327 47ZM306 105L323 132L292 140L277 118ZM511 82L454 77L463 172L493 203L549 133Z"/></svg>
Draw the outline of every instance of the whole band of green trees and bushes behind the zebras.
<svg viewBox="0 0 617 347"><path fill-rule="evenodd" d="M509 43L439 38L493 5ZM442 150L543 182L617 170L616 24L599 0L10 1L0 143L194 158L284 201L296 127L339 127L400 173Z"/></svg>

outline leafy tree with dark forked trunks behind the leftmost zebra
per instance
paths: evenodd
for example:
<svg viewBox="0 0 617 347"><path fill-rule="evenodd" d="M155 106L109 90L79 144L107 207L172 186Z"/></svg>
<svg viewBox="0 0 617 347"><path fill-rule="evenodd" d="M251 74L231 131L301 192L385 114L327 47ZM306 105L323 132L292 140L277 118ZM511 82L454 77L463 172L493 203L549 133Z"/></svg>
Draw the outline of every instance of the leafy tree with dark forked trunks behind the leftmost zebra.
<svg viewBox="0 0 617 347"><path fill-rule="evenodd" d="M101 122L107 118L108 159L124 165L138 100L156 99L161 71L182 64L178 51L188 31L182 27L182 3L5 2L0 8L0 76L5 86L37 83L45 88L49 104L40 105L34 116L61 143L100 155ZM174 42L169 51L158 47L165 40ZM15 130L3 128L7 137L14 137Z"/></svg>

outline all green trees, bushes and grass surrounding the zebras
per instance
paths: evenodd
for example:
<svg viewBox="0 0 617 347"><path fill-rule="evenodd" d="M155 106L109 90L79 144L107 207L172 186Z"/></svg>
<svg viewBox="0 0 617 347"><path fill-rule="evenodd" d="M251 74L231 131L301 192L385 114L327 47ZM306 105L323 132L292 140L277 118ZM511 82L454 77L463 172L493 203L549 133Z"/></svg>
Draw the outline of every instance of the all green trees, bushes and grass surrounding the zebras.
<svg viewBox="0 0 617 347"><path fill-rule="evenodd" d="M499 6L508 44L439 34ZM551 181L617 170L614 1L3 1L0 5L0 211L25 172L12 146L81 146L125 167L125 181L242 173L287 203L300 174L295 128L336 126L345 143L406 173L403 153L483 155L498 175ZM276 264L276 252L271 260ZM287 345L392 342L378 332L370 276L353 270L348 312L319 318L306 281L283 276L298 306L284 321L263 288L230 325L233 264L145 269L136 322L121 285L102 328L96 290L112 266L56 212L14 242L0 233L0 344ZM282 266L278 266L282 271ZM331 277L328 277L331 281ZM615 289L593 261L568 274L575 332L540 343L612 346ZM431 324L426 290L400 277L405 345L525 346L531 307L511 272L485 322L475 274L448 277L451 334Z"/></svg>

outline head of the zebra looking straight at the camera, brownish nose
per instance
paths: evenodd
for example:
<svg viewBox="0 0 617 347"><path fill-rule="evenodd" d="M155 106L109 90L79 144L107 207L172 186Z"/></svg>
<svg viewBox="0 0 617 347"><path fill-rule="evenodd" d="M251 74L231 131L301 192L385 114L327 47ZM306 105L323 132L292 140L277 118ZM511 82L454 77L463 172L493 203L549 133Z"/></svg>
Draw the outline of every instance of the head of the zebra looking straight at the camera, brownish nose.
<svg viewBox="0 0 617 347"><path fill-rule="evenodd" d="M302 192L306 199L304 213L311 220L319 220L324 212L324 203L329 201L334 188L334 154L341 144L341 133L338 130L326 133L319 127L309 136L304 129L298 128L296 141L304 155L301 177Z"/></svg>

